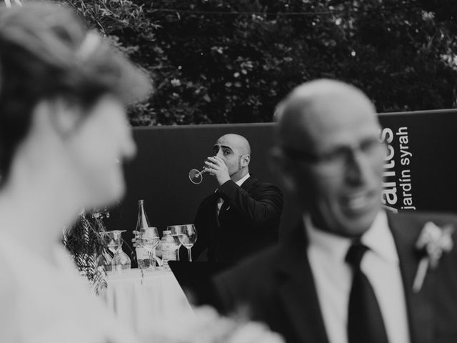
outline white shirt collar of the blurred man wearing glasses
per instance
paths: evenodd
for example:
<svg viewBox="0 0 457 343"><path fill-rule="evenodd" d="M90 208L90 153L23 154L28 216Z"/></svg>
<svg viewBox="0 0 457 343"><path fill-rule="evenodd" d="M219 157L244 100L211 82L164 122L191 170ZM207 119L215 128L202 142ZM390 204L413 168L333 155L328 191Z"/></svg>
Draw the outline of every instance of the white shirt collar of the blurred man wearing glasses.
<svg viewBox="0 0 457 343"><path fill-rule="evenodd" d="M322 231L318 229L308 214L303 217L305 222L306 232L308 234L309 243L317 249L322 249L326 254L343 261L346 257L351 239L341 237L336 234ZM377 254L382 259L389 263L398 263L398 253L396 251L395 242L388 228L388 219L386 212L380 211L374 219L371 227L362 235L361 241L372 252Z"/></svg>

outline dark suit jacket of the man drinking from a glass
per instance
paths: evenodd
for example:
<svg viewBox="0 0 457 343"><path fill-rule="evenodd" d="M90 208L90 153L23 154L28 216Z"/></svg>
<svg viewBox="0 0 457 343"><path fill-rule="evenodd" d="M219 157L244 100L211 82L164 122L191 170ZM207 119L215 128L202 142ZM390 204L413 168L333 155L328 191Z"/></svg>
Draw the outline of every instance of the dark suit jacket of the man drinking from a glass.
<svg viewBox="0 0 457 343"><path fill-rule="evenodd" d="M217 202L224 199L219 216ZM194 221L195 257L208 248L210 262L238 262L278 241L283 196L273 184L246 179L241 187L228 181L201 202Z"/></svg>

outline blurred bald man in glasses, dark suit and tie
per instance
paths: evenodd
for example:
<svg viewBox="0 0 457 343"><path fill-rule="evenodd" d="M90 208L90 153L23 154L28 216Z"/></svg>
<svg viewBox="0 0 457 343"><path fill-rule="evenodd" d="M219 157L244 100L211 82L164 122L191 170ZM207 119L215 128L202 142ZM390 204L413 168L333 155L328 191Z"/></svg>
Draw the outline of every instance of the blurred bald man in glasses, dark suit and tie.
<svg viewBox="0 0 457 343"><path fill-rule="evenodd" d="M302 217L276 247L216 277L221 309L247 304L289 343L457 342L456 218L383 210L386 146L371 101L311 81L278 120L274 159ZM433 270L419 268L424 232L443 253Z"/></svg>

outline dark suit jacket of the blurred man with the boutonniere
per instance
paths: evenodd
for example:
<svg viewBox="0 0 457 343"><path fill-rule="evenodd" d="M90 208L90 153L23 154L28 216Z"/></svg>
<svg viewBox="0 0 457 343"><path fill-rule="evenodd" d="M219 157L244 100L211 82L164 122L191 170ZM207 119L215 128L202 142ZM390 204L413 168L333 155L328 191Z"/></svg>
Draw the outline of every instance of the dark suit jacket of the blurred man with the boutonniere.
<svg viewBox="0 0 457 343"><path fill-rule="evenodd" d="M418 294L413 279L420 256L414 249L426 222L453 224L455 217L428 214L388 214L396 242L411 343L457 342L457 247L443 254L429 271ZM453 234L456 243L456 234ZM221 309L248 304L253 319L266 322L290 343L328 343L316 286L306 254L303 224L291 237L214 279Z"/></svg>

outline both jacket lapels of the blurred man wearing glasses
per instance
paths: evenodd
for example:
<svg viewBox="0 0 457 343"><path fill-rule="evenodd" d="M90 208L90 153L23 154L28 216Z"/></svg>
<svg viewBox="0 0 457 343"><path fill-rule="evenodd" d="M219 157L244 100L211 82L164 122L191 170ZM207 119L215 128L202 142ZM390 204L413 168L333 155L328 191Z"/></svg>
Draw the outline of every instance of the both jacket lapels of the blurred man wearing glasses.
<svg viewBox="0 0 457 343"><path fill-rule="evenodd" d="M414 245L422 227L404 214L388 213L388 222L400 261L411 343L433 342L432 294L436 282L433 273L427 274L421 292L412 292L419 262ZM300 341L328 342L306 245L303 225L298 226L290 240L283 242L283 258L276 264L282 280L278 292L288 315L285 320L291 322Z"/></svg>

